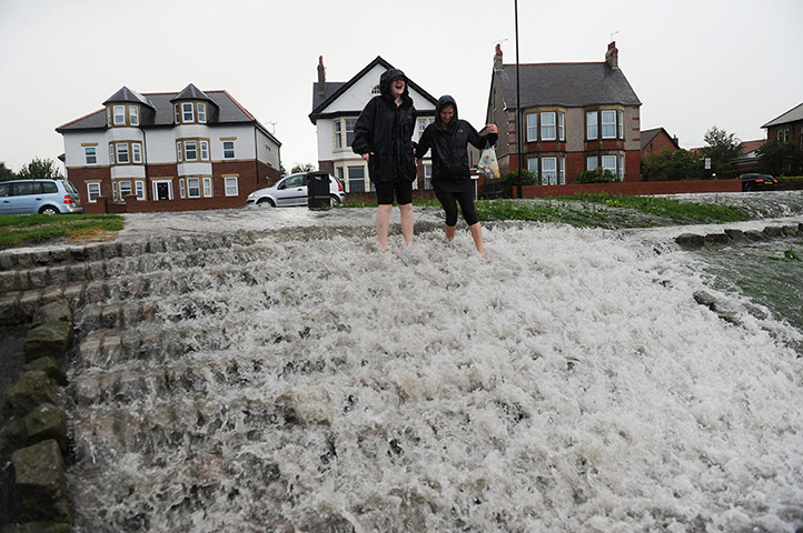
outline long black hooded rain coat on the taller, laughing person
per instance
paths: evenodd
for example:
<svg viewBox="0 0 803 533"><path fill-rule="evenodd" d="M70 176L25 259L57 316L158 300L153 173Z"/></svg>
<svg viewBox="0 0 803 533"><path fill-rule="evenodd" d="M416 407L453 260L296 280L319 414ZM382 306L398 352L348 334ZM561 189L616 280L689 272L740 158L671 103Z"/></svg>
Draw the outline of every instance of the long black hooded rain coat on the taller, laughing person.
<svg viewBox="0 0 803 533"><path fill-rule="evenodd" d="M402 105L390 94L390 81L404 77ZM371 98L354 127L351 149L360 155L370 153L368 175L374 182L416 179L413 154L413 132L416 108L409 95L409 82L399 69L390 69L379 77L379 95Z"/></svg>

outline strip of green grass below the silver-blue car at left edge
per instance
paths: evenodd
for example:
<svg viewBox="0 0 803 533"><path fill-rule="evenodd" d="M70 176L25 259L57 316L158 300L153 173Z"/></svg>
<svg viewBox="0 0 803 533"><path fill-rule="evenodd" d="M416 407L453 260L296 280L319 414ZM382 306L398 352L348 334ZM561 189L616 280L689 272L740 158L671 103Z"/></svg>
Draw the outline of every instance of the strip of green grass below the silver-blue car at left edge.
<svg viewBox="0 0 803 533"><path fill-rule="evenodd" d="M0 215L0 249L52 239L102 239L122 225L123 219L117 214L6 214Z"/></svg>

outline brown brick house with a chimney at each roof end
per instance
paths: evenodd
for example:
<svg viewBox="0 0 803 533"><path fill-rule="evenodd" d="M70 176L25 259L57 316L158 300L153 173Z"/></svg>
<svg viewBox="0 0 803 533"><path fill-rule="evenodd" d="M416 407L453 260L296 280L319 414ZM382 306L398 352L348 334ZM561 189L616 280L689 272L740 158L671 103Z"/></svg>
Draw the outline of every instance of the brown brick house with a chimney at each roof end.
<svg viewBox="0 0 803 533"><path fill-rule="evenodd" d="M499 127L496 151L502 173L518 168L517 109L521 108L523 169L539 182L574 183L597 167L619 181L641 181L642 102L618 68L616 43L605 61L505 64L496 46L486 122Z"/></svg>

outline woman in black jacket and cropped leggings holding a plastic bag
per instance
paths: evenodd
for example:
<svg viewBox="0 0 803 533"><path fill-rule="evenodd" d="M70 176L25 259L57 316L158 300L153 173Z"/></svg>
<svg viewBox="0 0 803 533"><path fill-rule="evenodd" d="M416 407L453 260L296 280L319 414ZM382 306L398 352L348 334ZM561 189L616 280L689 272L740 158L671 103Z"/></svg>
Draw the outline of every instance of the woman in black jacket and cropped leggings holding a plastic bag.
<svg viewBox="0 0 803 533"><path fill-rule="evenodd" d="M446 240L455 238L457 227L457 203L468 224L477 251L485 257L483 229L474 209L474 184L468 169L468 143L478 149L494 144L498 138L496 124L487 124L488 133L480 135L472 124L457 118L457 102L448 94L438 99L435 107L435 122L422 133L416 158L423 158L433 150L433 189L446 211Z"/></svg>

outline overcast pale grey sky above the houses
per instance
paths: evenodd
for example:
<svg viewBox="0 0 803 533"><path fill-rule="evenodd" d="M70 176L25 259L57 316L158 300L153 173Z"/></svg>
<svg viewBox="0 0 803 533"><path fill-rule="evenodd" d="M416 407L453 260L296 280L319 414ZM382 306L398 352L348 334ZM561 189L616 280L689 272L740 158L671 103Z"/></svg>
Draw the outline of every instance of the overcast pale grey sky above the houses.
<svg viewBox="0 0 803 533"><path fill-rule="evenodd" d="M394 7L395 6L395 7ZM603 61L643 102L642 129L683 148L712 125L742 140L803 102L801 0L519 0L522 63ZM513 0L0 0L0 161L54 159L54 128L139 92L226 89L281 141L281 162L316 163L318 56L347 81L377 56L479 128L494 47L515 62Z"/></svg>

